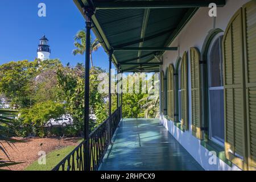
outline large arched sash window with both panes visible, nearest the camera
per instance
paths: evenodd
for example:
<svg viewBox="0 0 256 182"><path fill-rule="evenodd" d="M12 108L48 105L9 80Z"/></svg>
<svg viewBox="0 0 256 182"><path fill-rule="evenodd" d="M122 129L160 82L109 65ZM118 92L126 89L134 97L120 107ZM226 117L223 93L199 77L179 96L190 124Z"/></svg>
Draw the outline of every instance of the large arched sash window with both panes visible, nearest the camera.
<svg viewBox="0 0 256 182"><path fill-rule="evenodd" d="M224 146L224 86L222 76L222 38L218 34L208 52L209 138Z"/></svg>

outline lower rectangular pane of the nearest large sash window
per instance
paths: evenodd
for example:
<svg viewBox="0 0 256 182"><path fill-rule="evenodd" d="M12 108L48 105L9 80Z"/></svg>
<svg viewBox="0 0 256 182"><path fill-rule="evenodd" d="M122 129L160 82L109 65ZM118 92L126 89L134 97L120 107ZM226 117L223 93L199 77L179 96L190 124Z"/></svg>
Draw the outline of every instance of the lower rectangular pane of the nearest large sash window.
<svg viewBox="0 0 256 182"><path fill-rule="evenodd" d="M211 137L224 143L224 91L209 90Z"/></svg>

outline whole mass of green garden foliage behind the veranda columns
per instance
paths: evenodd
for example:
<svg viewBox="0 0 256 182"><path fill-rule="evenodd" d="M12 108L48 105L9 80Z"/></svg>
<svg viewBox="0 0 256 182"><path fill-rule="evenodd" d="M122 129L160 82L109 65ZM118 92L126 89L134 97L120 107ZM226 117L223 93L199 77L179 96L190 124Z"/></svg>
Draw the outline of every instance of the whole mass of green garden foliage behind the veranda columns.
<svg viewBox="0 0 256 182"><path fill-rule="evenodd" d="M1 65L0 71L0 93L21 111L20 119L13 125L16 135L35 133L43 136L45 122L67 113L73 117L74 134L82 135L85 89L83 64L78 63L76 67L68 64L64 67L60 60L12 61ZM89 109L90 114L95 114L97 118L96 121L90 121L91 130L108 118L108 93L98 92L98 85L102 81L98 76L101 73L105 71L98 67L92 67L89 73ZM125 118L155 117L158 107L159 98L150 100L149 94L123 94ZM115 109L117 94L112 94L112 112Z"/></svg>

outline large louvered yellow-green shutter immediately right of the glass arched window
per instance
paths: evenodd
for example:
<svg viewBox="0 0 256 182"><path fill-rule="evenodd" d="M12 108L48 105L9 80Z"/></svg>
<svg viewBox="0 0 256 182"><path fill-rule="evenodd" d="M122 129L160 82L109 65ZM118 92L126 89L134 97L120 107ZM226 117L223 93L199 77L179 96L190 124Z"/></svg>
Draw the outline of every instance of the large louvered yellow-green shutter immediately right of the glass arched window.
<svg viewBox="0 0 256 182"><path fill-rule="evenodd" d="M225 155L246 169L245 85L242 37L242 9L230 20L223 39Z"/></svg>

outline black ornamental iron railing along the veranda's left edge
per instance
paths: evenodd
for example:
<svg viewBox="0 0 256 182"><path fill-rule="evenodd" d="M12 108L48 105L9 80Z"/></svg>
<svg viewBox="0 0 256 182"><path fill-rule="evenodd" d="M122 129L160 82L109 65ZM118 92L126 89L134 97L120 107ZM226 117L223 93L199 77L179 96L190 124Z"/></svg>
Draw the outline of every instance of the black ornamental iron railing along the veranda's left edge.
<svg viewBox="0 0 256 182"><path fill-rule="evenodd" d="M106 119L106 121L90 133L89 154L85 154L86 140L84 140L61 160L52 171L84 171L85 163L87 163L84 161L85 155L89 155L90 171L97 171L121 120L121 112L122 106L115 110L110 118ZM108 125L110 125L110 131Z"/></svg>

